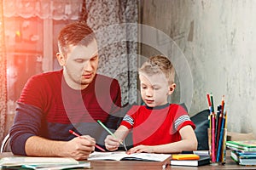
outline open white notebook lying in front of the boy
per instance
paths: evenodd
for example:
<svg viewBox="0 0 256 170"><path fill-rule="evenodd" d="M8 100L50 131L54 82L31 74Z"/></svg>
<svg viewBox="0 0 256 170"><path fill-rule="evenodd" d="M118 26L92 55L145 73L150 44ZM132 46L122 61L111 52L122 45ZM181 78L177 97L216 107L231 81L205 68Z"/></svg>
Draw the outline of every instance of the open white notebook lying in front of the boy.
<svg viewBox="0 0 256 170"><path fill-rule="evenodd" d="M126 154L125 151L93 152L88 160L113 160L113 161L165 161L171 158L171 154L134 153Z"/></svg>

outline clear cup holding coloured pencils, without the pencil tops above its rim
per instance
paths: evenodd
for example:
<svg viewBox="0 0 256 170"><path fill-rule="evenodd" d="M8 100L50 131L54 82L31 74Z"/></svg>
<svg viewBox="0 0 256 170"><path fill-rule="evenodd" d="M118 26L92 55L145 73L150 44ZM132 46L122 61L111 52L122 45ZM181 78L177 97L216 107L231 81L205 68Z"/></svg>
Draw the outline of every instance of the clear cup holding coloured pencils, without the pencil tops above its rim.
<svg viewBox="0 0 256 170"><path fill-rule="evenodd" d="M208 128L208 145L211 156L211 164L225 164L226 161L227 129Z"/></svg>

